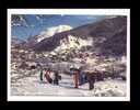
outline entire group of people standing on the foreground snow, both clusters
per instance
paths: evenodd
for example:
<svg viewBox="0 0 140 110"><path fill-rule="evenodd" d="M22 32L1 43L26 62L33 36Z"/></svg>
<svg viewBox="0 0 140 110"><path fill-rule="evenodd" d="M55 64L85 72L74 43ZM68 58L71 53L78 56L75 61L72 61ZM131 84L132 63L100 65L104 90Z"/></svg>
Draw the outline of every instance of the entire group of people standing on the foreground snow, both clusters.
<svg viewBox="0 0 140 110"><path fill-rule="evenodd" d="M90 75L85 75L82 69L78 68L70 68L70 75L73 77L74 88L79 88L79 86L89 82L89 89L92 90L94 88L95 78ZM59 80L61 76L57 70L50 70L50 68L40 69L39 78L44 81L44 78L48 84L59 85Z"/></svg>

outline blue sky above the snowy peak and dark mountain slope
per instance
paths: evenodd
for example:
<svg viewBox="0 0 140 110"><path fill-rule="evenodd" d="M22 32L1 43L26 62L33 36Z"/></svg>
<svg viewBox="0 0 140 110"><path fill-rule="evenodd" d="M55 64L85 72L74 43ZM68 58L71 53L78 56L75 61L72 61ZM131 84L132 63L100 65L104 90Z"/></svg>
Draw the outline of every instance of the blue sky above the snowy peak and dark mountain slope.
<svg viewBox="0 0 140 110"><path fill-rule="evenodd" d="M42 19L35 14L24 14L26 22L22 22L22 25L12 26L12 36L16 36L20 40L26 40L30 36L38 35L47 28L58 25L70 25L73 29L93 23L104 19L104 15L44 15Z"/></svg>

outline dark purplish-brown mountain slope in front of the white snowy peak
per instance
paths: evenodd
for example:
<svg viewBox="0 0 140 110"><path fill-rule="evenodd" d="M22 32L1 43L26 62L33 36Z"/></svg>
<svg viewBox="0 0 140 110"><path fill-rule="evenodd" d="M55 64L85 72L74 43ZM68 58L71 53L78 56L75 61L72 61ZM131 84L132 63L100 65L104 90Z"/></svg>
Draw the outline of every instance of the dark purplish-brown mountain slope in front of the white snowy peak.
<svg viewBox="0 0 140 110"><path fill-rule="evenodd" d="M80 40L92 40L93 43L90 45L90 50L102 55L126 55L127 18L105 19L70 31L56 33L51 37L35 43L33 48L37 52L54 51L61 45L62 40L70 41L68 40L70 35L75 37L77 43L80 43ZM66 45L69 43L66 42Z"/></svg>

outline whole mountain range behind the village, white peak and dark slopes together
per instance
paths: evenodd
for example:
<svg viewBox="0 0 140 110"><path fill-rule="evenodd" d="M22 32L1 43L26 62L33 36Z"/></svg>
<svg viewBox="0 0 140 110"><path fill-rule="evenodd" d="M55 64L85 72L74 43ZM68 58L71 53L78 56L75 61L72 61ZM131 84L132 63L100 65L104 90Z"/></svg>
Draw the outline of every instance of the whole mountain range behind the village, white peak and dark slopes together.
<svg viewBox="0 0 140 110"><path fill-rule="evenodd" d="M51 32L50 32L51 31ZM52 52L69 48L98 53L101 55L126 55L127 16L106 18L102 21L71 29L59 25L30 37L22 44L35 52Z"/></svg>

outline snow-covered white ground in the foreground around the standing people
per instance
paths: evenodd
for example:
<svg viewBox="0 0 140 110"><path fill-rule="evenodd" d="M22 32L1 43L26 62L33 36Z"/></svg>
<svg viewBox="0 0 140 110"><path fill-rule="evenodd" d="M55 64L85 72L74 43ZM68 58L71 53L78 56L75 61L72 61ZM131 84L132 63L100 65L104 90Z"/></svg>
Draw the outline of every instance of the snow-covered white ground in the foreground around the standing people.
<svg viewBox="0 0 140 110"><path fill-rule="evenodd" d="M11 96L60 96L60 97L125 97L126 81L106 79L96 81L95 88L89 90L89 84L79 89L73 88L72 76L61 74L59 86L39 81L38 74L19 79L11 84Z"/></svg>

